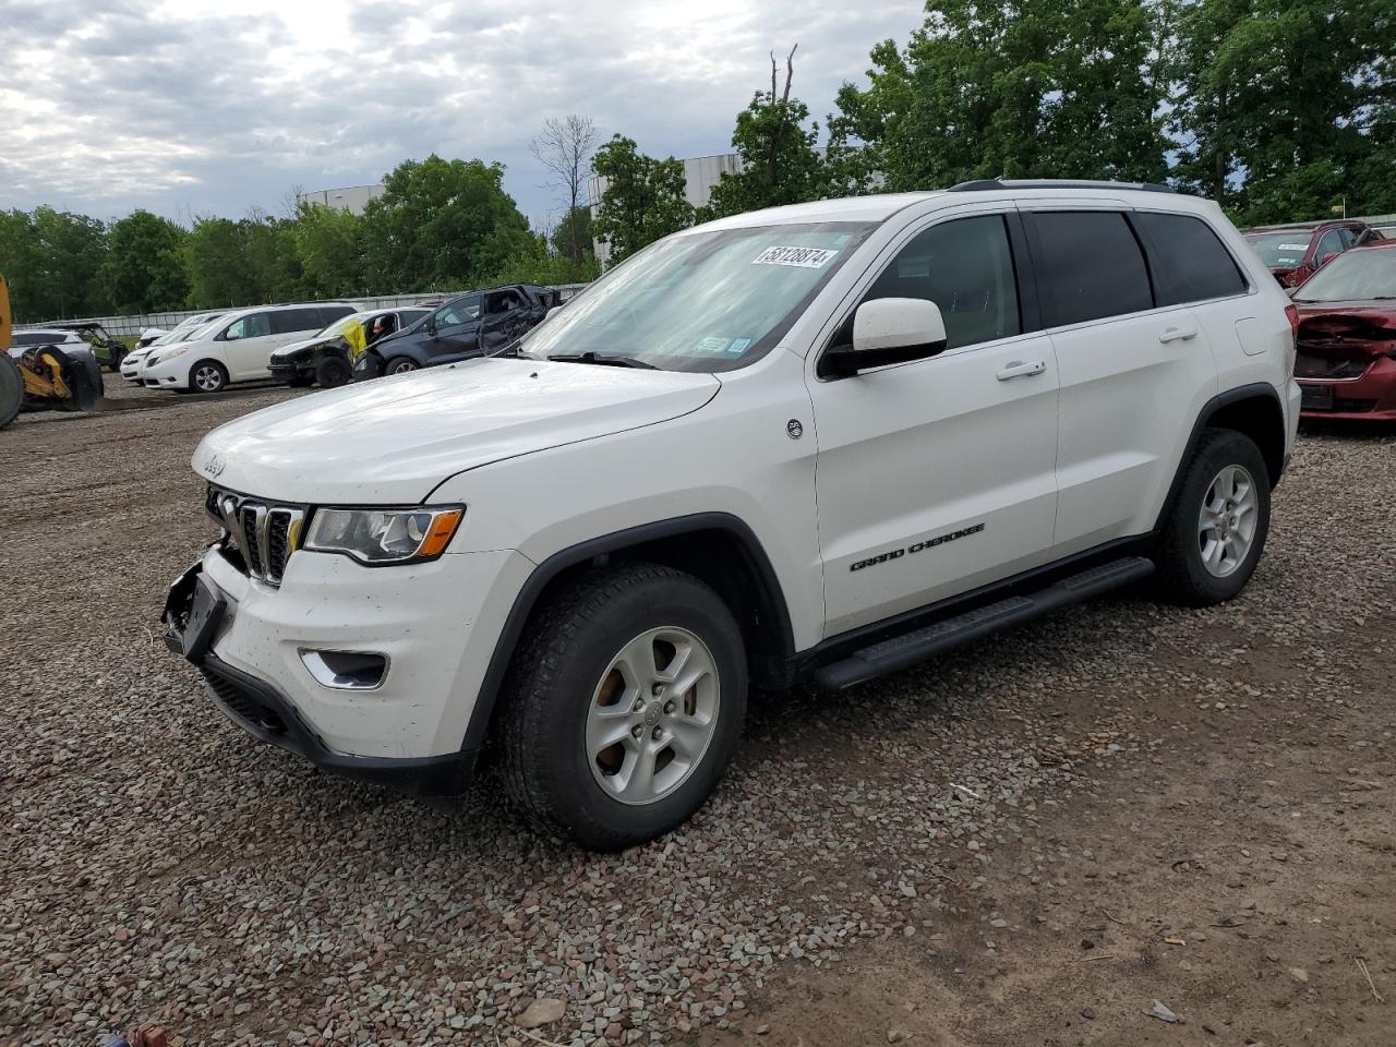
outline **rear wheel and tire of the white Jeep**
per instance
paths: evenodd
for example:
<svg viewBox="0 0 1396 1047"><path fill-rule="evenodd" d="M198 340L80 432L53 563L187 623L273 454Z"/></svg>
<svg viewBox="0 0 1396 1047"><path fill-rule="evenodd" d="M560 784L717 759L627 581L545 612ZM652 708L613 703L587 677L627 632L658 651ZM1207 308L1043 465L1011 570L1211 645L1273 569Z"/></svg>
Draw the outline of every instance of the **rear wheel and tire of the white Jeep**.
<svg viewBox="0 0 1396 1047"><path fill-rule="evenodd" d="M1270 473L1255 441L1203 430L1159 547L1163 595L1188 607L1235 596L1255 572L1270 529Z"/></svg>

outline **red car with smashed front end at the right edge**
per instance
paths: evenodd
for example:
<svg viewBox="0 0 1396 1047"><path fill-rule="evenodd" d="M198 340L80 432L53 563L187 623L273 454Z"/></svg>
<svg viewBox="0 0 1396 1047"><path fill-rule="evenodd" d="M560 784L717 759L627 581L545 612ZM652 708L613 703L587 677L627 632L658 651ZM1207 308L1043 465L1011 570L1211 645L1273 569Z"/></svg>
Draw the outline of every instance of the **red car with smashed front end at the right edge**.
<svg viewBox="0 0 1396 1047"><path fill-rule="evenodd" d="M1300 413L1396 420L1396 240L1344 253L1291 297Z"/></svg>

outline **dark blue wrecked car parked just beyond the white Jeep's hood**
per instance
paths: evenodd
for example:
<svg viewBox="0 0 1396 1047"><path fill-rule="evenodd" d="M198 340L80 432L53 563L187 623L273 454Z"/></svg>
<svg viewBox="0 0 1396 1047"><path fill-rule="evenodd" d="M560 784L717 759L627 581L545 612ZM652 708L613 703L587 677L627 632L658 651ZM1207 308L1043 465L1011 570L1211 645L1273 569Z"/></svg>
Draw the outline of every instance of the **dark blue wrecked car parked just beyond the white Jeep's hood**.
<svg viewBox="0 0 1396 1047"><path fill-rule="evenodd" d="M402 374L503 349L542 322L557 304L561 304L557 290L535 283L472 290L401 334L370 345L355 364L355 377Z"/></svg>

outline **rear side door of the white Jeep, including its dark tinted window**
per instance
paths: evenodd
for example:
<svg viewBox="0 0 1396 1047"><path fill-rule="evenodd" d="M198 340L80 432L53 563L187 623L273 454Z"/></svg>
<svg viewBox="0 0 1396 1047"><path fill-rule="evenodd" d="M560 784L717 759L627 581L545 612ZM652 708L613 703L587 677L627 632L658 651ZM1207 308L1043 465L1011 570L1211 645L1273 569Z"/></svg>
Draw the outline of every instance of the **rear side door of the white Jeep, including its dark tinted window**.
<svg viewBox="0 0 1396 1047"><path fill-rule="evenodd" d="M1061 373L1062 557L1153 528L1216 369L1191 310L1159 304L1124 207L1022 207Z"/></svg>

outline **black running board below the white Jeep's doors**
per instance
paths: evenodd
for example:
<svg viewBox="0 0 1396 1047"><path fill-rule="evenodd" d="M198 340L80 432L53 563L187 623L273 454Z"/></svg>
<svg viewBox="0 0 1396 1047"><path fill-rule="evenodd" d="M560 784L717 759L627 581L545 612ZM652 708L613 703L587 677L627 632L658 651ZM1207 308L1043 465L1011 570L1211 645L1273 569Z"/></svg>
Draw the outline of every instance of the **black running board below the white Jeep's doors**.
<svg viewBox="0 0 1396 1047"><path fill-rule="evenodd" d="M817 669L814 681L829 691L839 691L886 673L907 669L919 662L969 644L1009 625L1019 625L1058 607L1089 600L1100 593L1153 574L1153 561L1142 556L1111 560L1089 571L1062 578L1046 589L1025 596L1009 596L951 618L942 618L900 637L866 646L847 658Z"/></svg>

